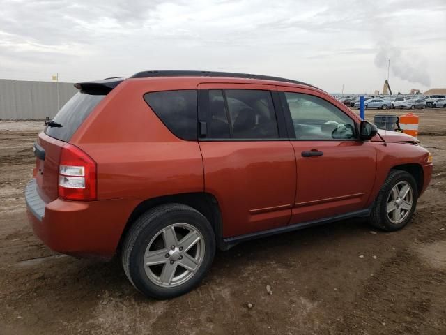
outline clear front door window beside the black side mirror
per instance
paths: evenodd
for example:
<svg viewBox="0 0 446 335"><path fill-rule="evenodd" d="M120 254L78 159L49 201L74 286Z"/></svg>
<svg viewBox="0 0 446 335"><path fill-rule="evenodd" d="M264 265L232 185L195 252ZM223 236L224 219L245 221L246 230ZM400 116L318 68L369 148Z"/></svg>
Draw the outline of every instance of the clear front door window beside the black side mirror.
<svg viewBox="0 0 446 335"><path fill-rule="evenodd" d="M355 123L338 107L317 96L285 92L297 140L351 140Z"/></svg>

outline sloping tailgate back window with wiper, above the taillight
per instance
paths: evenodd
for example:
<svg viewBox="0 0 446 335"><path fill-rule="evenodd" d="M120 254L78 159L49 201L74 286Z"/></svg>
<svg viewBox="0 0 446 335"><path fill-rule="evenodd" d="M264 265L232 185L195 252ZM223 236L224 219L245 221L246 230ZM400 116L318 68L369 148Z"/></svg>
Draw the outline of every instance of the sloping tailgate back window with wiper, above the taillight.
<svg viewBox="0 0 446 335"><path fill-rule="evenodd" d="M105 95L94 95L78 92L73 96L54 117L53 121L61 127L45 128L45 134L63 142L68 142L77 128L89 116Z"/></svg>

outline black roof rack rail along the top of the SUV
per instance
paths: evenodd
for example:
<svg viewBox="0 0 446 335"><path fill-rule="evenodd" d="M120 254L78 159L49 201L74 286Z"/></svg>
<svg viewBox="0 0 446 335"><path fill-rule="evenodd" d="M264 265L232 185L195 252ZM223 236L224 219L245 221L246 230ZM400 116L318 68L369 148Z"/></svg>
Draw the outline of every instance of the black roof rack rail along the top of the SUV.
<svg viewBox="0 0 446 335"><path fill-rule="evenodd" d="M135 73L130 78L149 78L149 77L231 77L245 79L274 80L275 82L290 82L292 84L301 84L309 87L317 87L307 84L306 82L298 82L281 77L271 77L269 75L253 75L251 73L232 73L232 72L215 72L215 71L190 71L190 70L151 70Z"/></svg>

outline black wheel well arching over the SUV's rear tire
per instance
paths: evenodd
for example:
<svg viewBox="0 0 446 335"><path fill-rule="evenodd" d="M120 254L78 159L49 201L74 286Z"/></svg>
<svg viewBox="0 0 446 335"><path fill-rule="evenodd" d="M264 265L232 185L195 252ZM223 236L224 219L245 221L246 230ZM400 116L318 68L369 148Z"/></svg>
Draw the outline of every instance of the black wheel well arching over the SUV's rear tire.
<svg viewBox="0 0 446 335"><path fill-rule="evenodd" d="M132 211L127 223L125 223L125 228L121 234L121 239L118 244L118 249L121 249L125 235L134 223L134 221L141 216L144 212L157 207L160 204L185 204L199 211L203 216L205 216L210 225L214 230L215 240L219 248L223 248L222 244L222 216L220 214L220 207L218 205L217 199L210 193L181 193L175 195L166 195L158 198L152 198L144 200Z"/></svg>

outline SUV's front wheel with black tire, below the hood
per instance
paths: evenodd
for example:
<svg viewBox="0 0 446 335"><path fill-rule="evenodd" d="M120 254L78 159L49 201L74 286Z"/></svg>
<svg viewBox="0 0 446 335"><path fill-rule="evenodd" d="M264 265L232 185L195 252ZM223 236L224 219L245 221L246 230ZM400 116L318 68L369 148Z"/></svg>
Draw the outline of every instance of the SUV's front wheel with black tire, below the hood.
<svg viewBox="0 0 446 335"><path fill-rule="evenodd" d="M403 200L399 202L394 200L394 188L401 186L401 191L404 192L403 187L409 186L410 190ZM401 195L400 193L398 193ZM408 208L408 201L410 199L410 208ZM383 186L381 187L378 197L371 209L369 223L380 230L386 232L394 232L406 226L412 219L415 208L417 207L418 190L415 179L406 171L391 170ZM387 209L394 207L394 211L387 213ZM398 218L398 214L399 218ZM392 217L392 218L391 218ZM397 220L395 220L397 218ZM400 220L400 221L399 221Z"/></svg>

